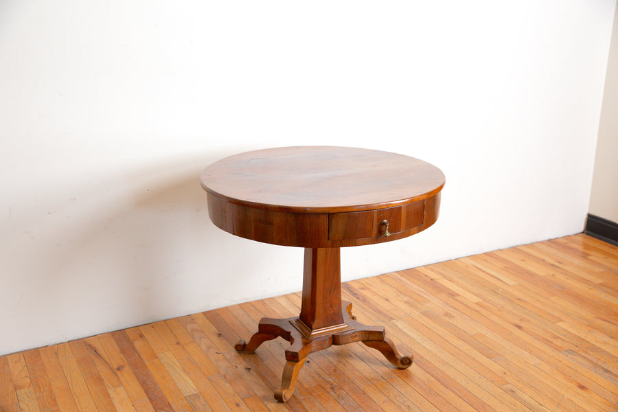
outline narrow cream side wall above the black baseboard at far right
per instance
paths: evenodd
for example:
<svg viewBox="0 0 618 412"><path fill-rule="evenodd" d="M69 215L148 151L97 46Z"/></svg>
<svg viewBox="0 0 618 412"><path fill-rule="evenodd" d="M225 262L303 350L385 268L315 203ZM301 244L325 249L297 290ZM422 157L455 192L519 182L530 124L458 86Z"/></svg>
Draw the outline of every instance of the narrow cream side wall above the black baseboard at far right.
<svg viewBox="0 0 618 412"><path fill-rule="evenodd" d="M607 63L590 213L618 222L618 8Z"/></svg>

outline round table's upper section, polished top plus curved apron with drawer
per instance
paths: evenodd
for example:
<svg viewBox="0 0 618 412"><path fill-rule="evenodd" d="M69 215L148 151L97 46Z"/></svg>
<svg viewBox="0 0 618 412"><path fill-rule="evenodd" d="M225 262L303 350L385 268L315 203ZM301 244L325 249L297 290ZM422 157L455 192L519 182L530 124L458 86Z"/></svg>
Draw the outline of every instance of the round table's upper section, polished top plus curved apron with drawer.
<svg viewBox="0 0 618 412"><path fill-rule="evenodd" d="M378 150L274 148L222 159L201 175L208 213L233 235L293 247L349 247L433 225L444 174ZM382 236L380 222L391 236Z"/></svg>

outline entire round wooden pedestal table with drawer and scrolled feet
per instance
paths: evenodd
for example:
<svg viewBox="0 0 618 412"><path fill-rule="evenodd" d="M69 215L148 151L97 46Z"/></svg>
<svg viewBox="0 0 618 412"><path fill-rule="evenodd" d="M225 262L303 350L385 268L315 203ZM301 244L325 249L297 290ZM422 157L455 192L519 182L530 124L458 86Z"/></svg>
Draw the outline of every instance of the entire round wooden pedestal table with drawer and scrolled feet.
<svg viewBox="0 0 618 412"><path fill-rule="evenodd" d="M400 369L400 356L384 327L366 326L341 301L339 248L390 242L436 221L444 174L435 166L391 152L332 146L298 146L244 152L201 174L212 222L242 238L304 247L301 311L290 319L260 320L249 343L253 353L278 336L286 350L275 398L292 395L308 354L362 341Z"/></svg>

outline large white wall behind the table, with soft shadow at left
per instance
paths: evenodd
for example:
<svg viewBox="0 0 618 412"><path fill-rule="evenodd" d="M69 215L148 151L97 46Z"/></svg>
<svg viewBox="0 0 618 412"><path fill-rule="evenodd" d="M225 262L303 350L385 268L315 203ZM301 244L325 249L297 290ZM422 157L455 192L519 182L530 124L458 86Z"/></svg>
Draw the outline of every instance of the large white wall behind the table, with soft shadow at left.
<svg viewBox="0 0 618 412"><path fill-rule="evenodd" d="M615 0L0 2L0 354L301 288L198 175L244 150L401 152L434 227L343 279L582 231Z"/></svg>

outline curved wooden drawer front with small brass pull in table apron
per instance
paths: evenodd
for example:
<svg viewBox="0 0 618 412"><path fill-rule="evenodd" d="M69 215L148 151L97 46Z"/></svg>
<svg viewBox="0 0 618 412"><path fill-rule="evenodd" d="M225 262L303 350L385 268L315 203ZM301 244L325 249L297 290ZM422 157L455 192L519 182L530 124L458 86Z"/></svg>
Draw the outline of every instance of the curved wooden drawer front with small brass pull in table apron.
<svg viewBox="0 0 618 412"><path fill-rule="evenodd" d="M423 224L424 201L369 211L328 214L328 240L354 240L382 236L389 222L391 234L407 231Z"/></svg>

